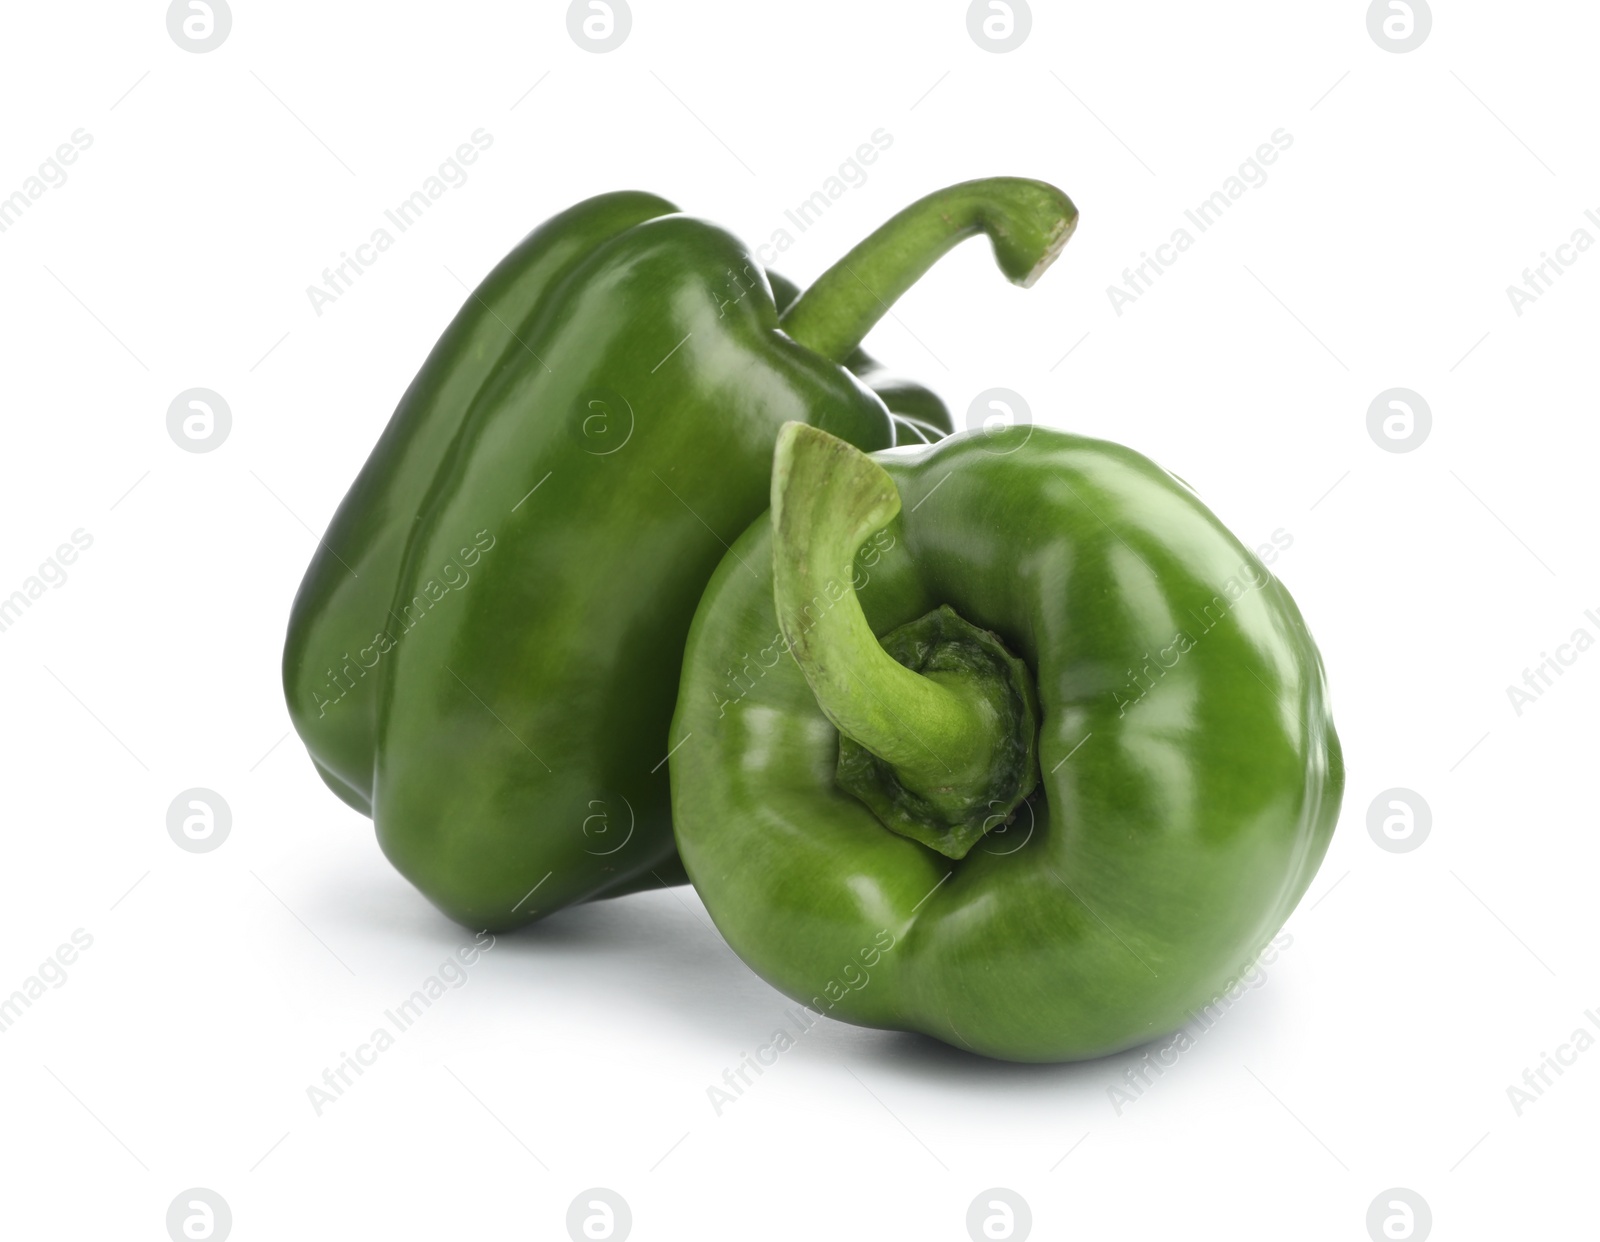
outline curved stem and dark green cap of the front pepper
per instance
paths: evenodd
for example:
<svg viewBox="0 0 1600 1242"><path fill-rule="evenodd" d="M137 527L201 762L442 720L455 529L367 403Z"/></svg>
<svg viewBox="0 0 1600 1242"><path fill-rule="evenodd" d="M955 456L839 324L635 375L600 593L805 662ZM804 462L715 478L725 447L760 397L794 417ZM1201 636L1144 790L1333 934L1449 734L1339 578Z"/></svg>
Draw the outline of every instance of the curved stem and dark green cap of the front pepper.
<svg viewBox="0 0 1600 1242"><path fill-rule="evenodd" d="M1032 679L995 635L949 608L886 635L894 655L880 645L856 597L854 557L899 509L894 482L869 456L784 424L773 600L789 651L842 735L840 784L885 826L962 858L1037 783Z"/></svg>

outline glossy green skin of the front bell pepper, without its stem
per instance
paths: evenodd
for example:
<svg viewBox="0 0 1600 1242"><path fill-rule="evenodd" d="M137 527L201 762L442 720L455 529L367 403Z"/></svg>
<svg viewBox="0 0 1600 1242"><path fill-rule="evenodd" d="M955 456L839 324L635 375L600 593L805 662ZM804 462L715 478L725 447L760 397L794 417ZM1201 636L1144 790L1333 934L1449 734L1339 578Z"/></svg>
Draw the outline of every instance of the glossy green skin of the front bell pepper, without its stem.
<svg viewBox="0 0 1600 1242"><path fill-rule="evenodd" d="M672 786L694 887L762 978L850 1023L1013 1061L1176 1031L1282 927L1338 819L1294 602L1133 450L1013 427L875 461L902 511L856 557L872 631L949 605L997 632L1037 679L1042 784L958 863L842 792L763 517L685 651Z"/></svg>

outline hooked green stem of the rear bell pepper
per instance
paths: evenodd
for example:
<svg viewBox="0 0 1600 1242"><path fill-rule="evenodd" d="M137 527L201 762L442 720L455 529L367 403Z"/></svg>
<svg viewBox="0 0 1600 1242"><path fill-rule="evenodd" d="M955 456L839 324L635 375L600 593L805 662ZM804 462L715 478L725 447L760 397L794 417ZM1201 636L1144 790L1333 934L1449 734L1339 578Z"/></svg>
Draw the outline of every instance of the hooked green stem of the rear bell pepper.
<svg viewBox="0 0 1600 1242"><path fill-rule="evenodd" d="M779 323L800 344L843 362L957 243L989 234L1006 280L1027 288L1056 261L1077 222L1072 200L1043 181L995 176L934 190L822 272Z"/></svg>

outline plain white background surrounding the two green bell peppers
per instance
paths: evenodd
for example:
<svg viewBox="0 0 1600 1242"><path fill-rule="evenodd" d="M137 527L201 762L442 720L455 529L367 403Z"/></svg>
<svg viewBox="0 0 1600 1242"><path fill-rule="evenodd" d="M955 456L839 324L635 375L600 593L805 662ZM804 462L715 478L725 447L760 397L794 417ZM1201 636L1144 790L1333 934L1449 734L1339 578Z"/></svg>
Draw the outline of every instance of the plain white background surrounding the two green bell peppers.
<svg viewBox="0 0 1600 1242"><path fill-rule="evenodd" d="M8 10L0 194L74 130L93 146L0 234L0 595L74 530L93 547L0 634L0 996L75 928L93 948L0 1034L6 1234L158 1239L208 1188L238 1239L560 1239L592 1186L637 1239L958 1240L989 1188L1053 1239L1358 1242L1389 1188L1437 1237L1592 1229L1600 1050L1522 1116L1507 1087L1600 1036L1600 651L1520 715L1506 687L1600 637L1600 253L1520 317L1506 286L1600 240L1600 11L1438 0L1408 54L1360 0L1037 3L1005 54L949 2L632 18L595 54L562 3L240 0L195 54L160 3ZM307 285L478 128L470 179L318 317ZM1155 456L1246 543L1293 536L1274 568L1349 786L1291 948L1120 1112L1138 1053L1010 1066L822 1020L717 1116L707 1087L789 1002L691 890L634 896L502 936L317 1117L306 1088L467 940L288 735L317 535L541 219L637 187L755 245L878 128L781 270L808 282L941 184L1062 186L1082 224L1037 288L973 243L869 347L958 416L1011 387ZM1118 315L1107 285L1278 128L1266 184ZM234 416L210 453L166 432L197 386ZM1366 429L1395 386L1434 419L1403 455ZM232 808L211 853L166 832L194 786ZM1368 834L1392 787L1432 810L1410 853Z"/></svg>

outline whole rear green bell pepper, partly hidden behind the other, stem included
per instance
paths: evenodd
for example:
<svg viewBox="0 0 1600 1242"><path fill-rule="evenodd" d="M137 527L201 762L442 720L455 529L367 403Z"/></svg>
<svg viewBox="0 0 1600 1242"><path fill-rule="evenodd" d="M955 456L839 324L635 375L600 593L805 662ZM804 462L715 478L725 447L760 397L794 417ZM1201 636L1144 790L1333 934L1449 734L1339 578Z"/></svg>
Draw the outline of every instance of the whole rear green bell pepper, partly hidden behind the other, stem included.
<svg viewBox="0 0 1600 1242"><path fill-rule="evenodd" d="M317 770L400 872L493 930L682 882L666 755L683 640L766 506L778 429L941 435L938 399L880 376L854 327L978 232L1029 280L1074 219L1040 182L941 190L782 319L736 238L654 195L592 198L518 245L402 399L283 651ZM851 270L893 274L885 301Z"/></svg>

